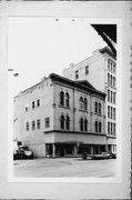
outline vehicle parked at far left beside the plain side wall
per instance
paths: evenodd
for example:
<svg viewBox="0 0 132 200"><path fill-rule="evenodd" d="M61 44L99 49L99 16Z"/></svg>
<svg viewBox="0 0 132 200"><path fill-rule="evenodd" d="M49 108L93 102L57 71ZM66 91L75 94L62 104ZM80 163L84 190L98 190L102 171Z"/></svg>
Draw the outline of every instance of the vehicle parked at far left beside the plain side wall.
<svg viewBox="0 0 132 200"><path fill-rule="evenodd" d="M28 146L19 146L13 151L13 159L33 159L33 151L29 150Z"/></svg>

